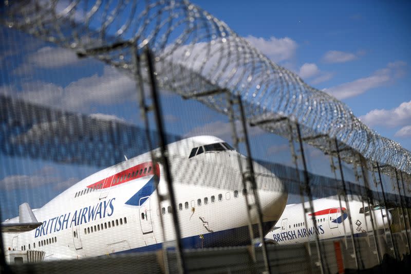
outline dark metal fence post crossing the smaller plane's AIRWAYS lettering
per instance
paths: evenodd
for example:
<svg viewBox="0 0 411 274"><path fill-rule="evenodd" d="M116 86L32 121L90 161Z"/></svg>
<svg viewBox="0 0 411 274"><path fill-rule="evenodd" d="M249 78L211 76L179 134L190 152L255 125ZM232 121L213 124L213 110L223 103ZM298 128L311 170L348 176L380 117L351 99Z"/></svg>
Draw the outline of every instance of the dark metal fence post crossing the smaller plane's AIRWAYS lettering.
<svg viewBox="0 0 411 274"><path fill-rule="evenodd" d="M303 167L304 167L305 191L306 191L308 199L309 199L311 212L314 212L314 205L312 203L312 193L311 193L311 187L310 187L310 179L308 177L307 163L305 161L305 156L304 156L304 146L303 146L303 140L301 138L300 125L298 123L296 123L296 127L297 127L298 142L300 142L301 158L302 158ZM305 211L305 207L304 207L304 211ZM304 215L305 214L306 214L306 212L304 212ZM311 219L312 219L312 223L313 223L314 227L316 228L317 227L317 221L315 219L314 214L311 214ZM321 270L321 273L323 274L324 273L324 261L323 261L323 255L322 255L322 252L321 252L322 250L321 250L321 246L320 246L320 239L319 239L318 233L315 233L315 244L316 244L316 248L317 248L318 257L320 259L320 262L319 262L320 263L320 270Z"/></svg>

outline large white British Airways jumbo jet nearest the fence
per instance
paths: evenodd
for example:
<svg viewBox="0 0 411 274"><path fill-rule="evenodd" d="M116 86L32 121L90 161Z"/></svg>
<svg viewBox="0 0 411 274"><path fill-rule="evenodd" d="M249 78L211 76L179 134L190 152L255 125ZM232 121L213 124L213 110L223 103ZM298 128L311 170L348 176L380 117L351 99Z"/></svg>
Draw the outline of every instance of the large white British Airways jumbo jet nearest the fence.
<svg viewBox="0 0 411 274"><path fill-rule="evenodd" d="M239 153L213 136L183 139L167 150L183 248L250 244L245 195L253 196L242 187ZM240 160L245 163L246 157L240 155ZM288 193L274 174L253 165L266 234L283 213ZM86 177L42 208L25 206L22 211L32 217L23 218L20 233L19 217L2 224L10 232L3 231L4 248L44 251L48 261L171 246L175 233L170 202L163 200L159 207L157 198L157 191L165 194L167 189L163 172L163 165L154 164L147 152ZM256 226L256 209L250 214ZM27 229L36 223L40 226Z"/></svg>

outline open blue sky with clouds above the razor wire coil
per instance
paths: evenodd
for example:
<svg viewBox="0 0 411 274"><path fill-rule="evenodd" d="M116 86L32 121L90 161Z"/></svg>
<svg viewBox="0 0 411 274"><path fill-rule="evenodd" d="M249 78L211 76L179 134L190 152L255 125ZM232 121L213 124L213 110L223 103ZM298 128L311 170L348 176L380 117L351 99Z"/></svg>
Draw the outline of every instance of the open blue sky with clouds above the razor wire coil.
<svg viewBox="0 0 411 274"><path fill-rule="evenodd" d="M194 3L411 150L410 2Z"/></svg>

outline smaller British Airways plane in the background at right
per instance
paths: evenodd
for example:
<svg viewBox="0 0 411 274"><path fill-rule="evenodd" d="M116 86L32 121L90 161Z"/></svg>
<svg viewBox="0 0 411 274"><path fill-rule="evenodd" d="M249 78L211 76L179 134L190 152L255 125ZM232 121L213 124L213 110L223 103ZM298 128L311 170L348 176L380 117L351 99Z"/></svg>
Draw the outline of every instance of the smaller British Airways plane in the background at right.
<svg viewBox="0 0 411 274"><path fill-rule="evenodd" d="M314 212L307 212L304 218L303 204L289 204L278 220L279 226L273 226L265 236L265 241L272 244L297 244L351 235L348 214L351 214L353 234L372 231L371 215L375 229L388 228L393 223L391 213L381 205L367 206L360 196L353 195L348 201L349 212L344 199L341 204L338 196L313 200ZM305 202L305 208L310 208ZM312 215L316 224L313 224ZM389 222L388 222L389 220ZM307 222L307 226L306 223ZM308 227L308 230L307 230Z"/></svg>

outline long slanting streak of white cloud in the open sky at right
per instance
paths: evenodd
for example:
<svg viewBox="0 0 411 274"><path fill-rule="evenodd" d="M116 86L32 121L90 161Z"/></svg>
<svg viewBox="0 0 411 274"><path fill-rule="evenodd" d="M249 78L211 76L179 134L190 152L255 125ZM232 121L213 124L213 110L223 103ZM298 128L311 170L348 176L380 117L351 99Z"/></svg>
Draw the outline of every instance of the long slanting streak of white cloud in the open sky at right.
<svg viewBox="0 0 411 274"><path fill-rule="evenodd" d="M325 91L337 99L346 99L365 93L367 90L388 84L397 78L404 76L405 62L398 61L388 63L383 69L375 71L371 76L360 78L339 86L330 87Z"/></svg>

